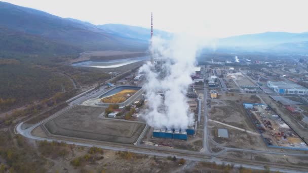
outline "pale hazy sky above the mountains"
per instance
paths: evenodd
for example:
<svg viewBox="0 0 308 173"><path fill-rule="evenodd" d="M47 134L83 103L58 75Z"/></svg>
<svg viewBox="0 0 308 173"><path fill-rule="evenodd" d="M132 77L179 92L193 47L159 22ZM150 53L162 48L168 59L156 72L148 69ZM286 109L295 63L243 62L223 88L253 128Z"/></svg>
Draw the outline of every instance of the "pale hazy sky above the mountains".
<svg viewBox="0 0 308 173"><path fill-rule="evenodd" d="M155 29L225 37L266 31L308 31L308 1L226 0L9 0L15 5L42 10L93 24L119 23Z"/></svg>

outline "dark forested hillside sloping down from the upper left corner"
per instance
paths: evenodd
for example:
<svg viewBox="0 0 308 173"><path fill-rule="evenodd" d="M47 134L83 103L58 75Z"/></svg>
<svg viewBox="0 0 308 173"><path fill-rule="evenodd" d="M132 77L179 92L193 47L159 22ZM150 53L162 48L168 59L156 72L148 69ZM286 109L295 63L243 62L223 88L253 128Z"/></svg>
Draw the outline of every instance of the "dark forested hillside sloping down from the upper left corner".
<svg viewBox="0 0 308 173"><path fill-rule="evenodd" d="M0 114L53 98L63 92L62 85L66 93L77 92L69 77L81 86L109 78L99 69L65 65L81 52L145 51L147 48L148 40L125 37L90 23L0 2Z"/></svg>

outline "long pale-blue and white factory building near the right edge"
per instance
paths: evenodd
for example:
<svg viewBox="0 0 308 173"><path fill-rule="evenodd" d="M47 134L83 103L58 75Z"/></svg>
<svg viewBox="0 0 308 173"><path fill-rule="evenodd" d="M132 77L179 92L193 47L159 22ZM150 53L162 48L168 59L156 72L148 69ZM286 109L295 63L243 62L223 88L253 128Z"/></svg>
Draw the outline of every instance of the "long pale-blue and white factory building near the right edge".
<svg viewBox="0 0 308 173"><path fill-rule="evenodd" d="M297 94L297 95L306 95L308 94L308 89L303 86L285 81L267 81L267 86L274 90L276 93L280 94Z"/></svg>

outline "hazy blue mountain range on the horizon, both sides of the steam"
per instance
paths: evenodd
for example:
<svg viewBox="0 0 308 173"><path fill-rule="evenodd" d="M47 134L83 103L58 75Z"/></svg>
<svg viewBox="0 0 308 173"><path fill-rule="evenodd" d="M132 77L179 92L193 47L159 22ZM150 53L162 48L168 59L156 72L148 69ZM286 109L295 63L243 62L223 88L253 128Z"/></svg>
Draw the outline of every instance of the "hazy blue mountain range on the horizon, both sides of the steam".
<svg viewBox="0 0 308 173"><path fill-rule="evenodd" d="M146 51L150 29L122 24L93 25L0 2L0 57L16 54L67 55L83 51ZM154 30L171 38L172 33ZM217 50L308 53L308 32L265 32L217 39Z"/></svg>

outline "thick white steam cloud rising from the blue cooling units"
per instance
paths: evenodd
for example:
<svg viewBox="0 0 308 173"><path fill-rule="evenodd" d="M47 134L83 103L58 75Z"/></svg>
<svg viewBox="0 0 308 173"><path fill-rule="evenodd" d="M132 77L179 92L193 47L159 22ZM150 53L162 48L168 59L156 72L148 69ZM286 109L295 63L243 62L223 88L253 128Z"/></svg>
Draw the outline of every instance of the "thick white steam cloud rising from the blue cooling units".
<svg viewBox="0 0 308 173"><path fill-rule="evenodd" d="M189 112L187 88L193 81L196 40L179 36L172 40L153 37L151 52L159 61L164 61L161 73L151 70L151 63L140 68L147 82L143 85L148 97L148 110L143 115L147 124L155 128L186 129L194 125L194 114ZM164 93L165 97L157 94Z"/></svg>

